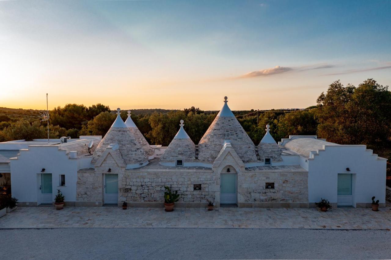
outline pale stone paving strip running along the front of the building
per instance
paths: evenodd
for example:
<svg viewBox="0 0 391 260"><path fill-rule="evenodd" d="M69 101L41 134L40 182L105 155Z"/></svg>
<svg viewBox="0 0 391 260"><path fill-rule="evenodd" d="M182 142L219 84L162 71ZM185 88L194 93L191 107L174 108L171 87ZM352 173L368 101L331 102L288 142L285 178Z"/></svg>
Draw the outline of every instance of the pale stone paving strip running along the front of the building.
<svg viewBox="0 0 391 260"><path fill-rule="evenodd" d="M0 228L295 228L366 230L391 228L391 207L369 208L163 208L19 207Z"/></svg>

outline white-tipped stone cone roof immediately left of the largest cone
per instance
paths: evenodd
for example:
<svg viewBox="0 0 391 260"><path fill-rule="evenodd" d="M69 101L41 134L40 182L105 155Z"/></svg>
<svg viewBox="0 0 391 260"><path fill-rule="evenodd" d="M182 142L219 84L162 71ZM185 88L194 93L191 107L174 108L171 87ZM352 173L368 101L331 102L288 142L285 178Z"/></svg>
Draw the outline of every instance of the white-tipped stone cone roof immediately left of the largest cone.
<svg viewBox="0 0 391 260"><path fill-rule="evenodd" d="M184 162L195 161L195 144L183 129L183 120L174 139L170 142L163 155L160 157L162 162L175 162L183 160Z"/></svg>

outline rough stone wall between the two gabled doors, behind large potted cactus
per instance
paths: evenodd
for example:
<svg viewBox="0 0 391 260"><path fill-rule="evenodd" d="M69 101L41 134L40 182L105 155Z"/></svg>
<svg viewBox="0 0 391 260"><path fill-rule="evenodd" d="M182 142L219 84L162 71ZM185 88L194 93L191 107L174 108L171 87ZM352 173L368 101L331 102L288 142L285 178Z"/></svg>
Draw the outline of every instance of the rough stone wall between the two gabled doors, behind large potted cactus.
<svg viewBox="0 0 391 260"><path fill-rule="evenodd" d="M204 202L215 196L216 176L208 172L139 172L125 171L122 187L119 187L119 201L127 202L163 202L164 186L180 194L179 202ZM201 190L194 190L194 184L201 184ZM219 187L220 188L220 187Z"/></svg>

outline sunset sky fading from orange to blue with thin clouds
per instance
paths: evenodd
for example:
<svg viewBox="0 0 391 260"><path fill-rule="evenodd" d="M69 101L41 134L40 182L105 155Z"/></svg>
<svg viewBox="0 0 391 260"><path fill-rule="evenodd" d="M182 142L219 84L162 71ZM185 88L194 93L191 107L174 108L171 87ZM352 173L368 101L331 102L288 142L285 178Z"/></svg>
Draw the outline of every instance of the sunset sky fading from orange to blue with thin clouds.
<svg viewBox="0 0 391 260"><path fill-rule="evenodd" d="M0 107L305 108L391 84L391 1L0 1Z"/></svg>

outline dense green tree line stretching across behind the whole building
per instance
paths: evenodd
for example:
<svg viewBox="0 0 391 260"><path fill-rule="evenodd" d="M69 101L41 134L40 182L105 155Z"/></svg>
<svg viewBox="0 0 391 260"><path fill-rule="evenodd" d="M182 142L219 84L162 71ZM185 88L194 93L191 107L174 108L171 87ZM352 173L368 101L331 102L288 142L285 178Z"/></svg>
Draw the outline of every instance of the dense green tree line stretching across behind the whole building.
<svg viewBox="0 0 391 260"><path fill-rule="evenodd" d="M341 144L388 145L391 139L391 93L387 86L368 79L357 87L344 86L339 80L317 98L317 105L305 111L287 112L270 110L248 116L254 112L233 111L240 124L257 145L265 134L265 125L271 126L276 141L289 135L318 135L328 141ZM199 142L217 111L202 111L190 107L184 110L161 110L160 112L134 114L133 121L151 144L167 146L179 129L179 120L185 120L185 130L195 144ZM121 112L126 120L127 112ZM105 135L116 118L108 106L97 104L91 107L68 104L50 111L50 137L79 135ZM0 116L0 141L14 139L31 140L46 138L45 122L38 120L9 120Z"/></svg>

